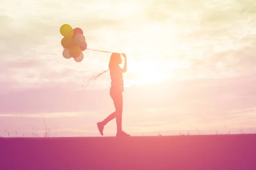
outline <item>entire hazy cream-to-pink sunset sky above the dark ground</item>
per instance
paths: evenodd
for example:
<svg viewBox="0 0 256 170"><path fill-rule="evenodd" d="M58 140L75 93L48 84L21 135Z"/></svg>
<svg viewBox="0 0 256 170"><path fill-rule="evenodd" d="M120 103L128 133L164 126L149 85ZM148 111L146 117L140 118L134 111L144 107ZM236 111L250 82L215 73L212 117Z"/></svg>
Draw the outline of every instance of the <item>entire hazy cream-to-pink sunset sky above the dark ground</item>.
<svg viewBox="0 0 256 170"><path fill-rule="evenodd" d="M255 0L1 0L0 136L100 136L114 111L111 53L62 56L59 28L125 53L123 130L256 133ZM122 66L122 65L121 65ZM115 136L116 122L105 126Z"/></svg>

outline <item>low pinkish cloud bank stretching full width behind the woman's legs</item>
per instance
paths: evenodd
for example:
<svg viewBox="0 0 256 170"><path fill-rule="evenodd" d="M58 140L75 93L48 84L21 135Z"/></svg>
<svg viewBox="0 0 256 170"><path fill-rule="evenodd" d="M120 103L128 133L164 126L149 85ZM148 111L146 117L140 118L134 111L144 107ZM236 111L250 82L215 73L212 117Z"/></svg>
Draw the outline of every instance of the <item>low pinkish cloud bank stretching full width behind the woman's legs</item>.
<svg viewBox="0 0 256 170"><path fill-rule="evenodd" d="M157 111L155 114L149 114L152 117L147 116L147 119L162 119L161 117L170 117L168 115L176 113L186 115L186 119L219 117L223 113L229 114L232 110L255 107L255 83L256 76L251 75L230 79L166 82L152 86L134 85L125 88L124 110L132 112L131 116L138 114L138 120L143 119L144 113L150 112L149 105ZM8 90L7 87L3 88ZM81 86L76 82L57 85L53 83L45 88L41 86L2 94L0 103L3 105L0 113L3 114L111 112L114 109L108 88L81 91ZM163 108L163 111L157 113L160 108Z"/></svg>

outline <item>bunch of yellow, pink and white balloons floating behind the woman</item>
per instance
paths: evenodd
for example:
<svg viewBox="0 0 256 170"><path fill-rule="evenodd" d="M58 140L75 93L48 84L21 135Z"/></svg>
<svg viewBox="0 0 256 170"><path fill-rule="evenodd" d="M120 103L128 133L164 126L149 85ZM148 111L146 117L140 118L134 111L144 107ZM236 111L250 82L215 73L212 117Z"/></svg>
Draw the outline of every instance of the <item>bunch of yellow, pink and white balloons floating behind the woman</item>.
<svg viewBox="0 0 256 170"><path fill-rule="evenodd" d="M84 33L81 28L72 28L68 24L64 24L60 28L61 45L64 48L62 55L66 59L74 58L76 62L81 62L84 59L84 51L87 48Z"/></svg>

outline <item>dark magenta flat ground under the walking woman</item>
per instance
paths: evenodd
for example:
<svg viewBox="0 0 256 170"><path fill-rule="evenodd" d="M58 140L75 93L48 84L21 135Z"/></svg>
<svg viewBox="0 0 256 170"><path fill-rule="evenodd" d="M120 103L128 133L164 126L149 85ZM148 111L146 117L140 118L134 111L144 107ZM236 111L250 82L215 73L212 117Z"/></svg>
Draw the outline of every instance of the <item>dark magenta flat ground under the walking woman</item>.
<svg viewBox="0 0 256 170"><path fill-rule="evenodd" d="M256 170L256 134L0 138L0 170Z"/></svg>

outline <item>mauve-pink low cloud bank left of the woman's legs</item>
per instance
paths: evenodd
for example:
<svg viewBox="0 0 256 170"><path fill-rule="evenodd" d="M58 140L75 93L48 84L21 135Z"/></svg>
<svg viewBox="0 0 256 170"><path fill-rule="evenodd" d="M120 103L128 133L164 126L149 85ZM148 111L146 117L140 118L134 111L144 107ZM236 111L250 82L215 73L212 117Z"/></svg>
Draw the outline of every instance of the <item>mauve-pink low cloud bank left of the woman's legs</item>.
<svg viewBox="0 0 256 170"><path fill-rule="evenodd" d="M45 88L1 94L1 113L49 113L95 111L104 108L107 92L70 92ZM99 100L100 99L100 100ZM109 100L111 102L111 100Z"/></svg>

